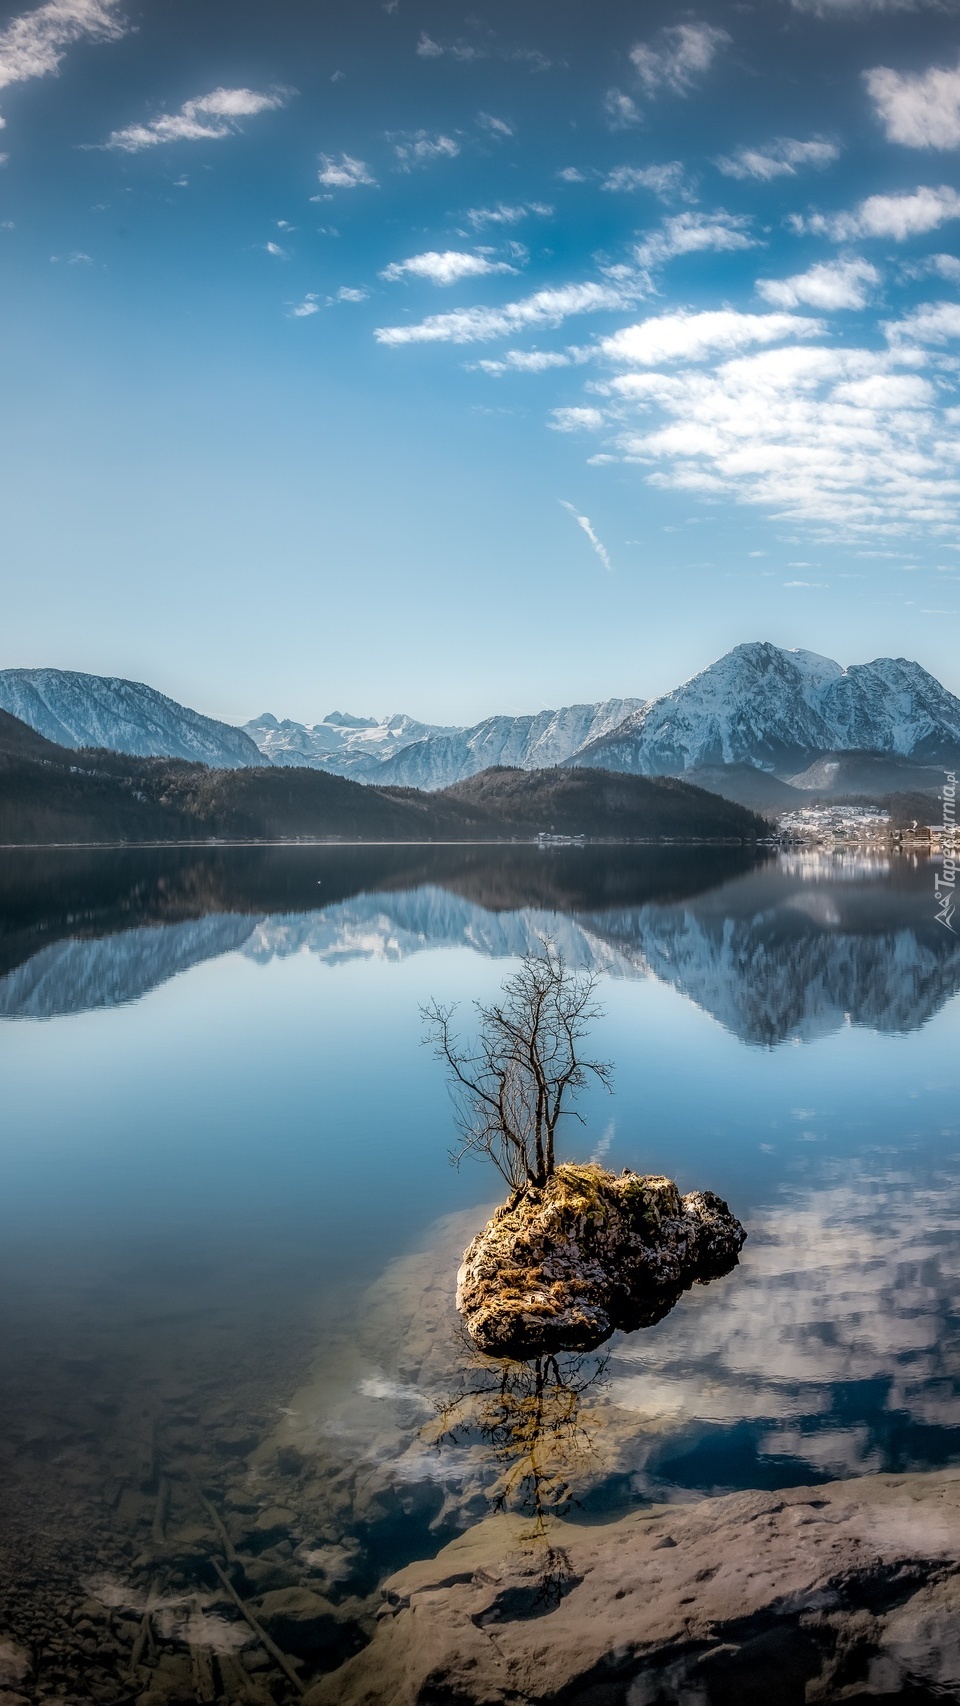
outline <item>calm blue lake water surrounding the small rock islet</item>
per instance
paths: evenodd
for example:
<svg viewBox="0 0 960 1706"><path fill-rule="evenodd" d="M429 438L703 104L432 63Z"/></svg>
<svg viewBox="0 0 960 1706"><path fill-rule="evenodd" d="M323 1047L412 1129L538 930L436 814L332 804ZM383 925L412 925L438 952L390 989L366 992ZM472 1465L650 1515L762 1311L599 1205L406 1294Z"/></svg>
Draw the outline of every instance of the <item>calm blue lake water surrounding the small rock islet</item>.
<svg viewBox="0 0 960 1706"><path fill-rule="evenodd" d="M113 1604L121 1657L147 1581L208 1585L200 1494L247 1595L353 1607L489 1508L483 1428L433 1442L472 1378L455 1268L500 1192L447 1162L419 1008L469 1015L544 935L599 972L616 1063L570 1153L718 1191L749 1230L730 1276L588 1370L580 1517L960 1462L960 940L933 870L5 855L0 1588L26 1570L17 1628L49 1675L78 1660L46 1581ZM181 1614L153 1636L189 1646ZM360 1610L338 1639L309 1665L363 1639ZM95 1665L89 1697L119 1699L123 1663Z"/></svg>

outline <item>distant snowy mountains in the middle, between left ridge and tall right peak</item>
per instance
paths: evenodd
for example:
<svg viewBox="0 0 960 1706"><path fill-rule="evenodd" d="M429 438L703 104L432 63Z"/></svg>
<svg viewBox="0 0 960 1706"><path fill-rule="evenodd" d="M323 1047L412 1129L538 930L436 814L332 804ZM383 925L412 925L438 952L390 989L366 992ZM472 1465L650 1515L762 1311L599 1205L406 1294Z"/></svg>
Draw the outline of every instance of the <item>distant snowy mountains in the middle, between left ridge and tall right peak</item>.
<svg viewBox="0 0 960 1706"><path fill-rule="evenodd" d="M471 728L333 711L322 723L278 722L269 711L244 732L273 764L307 764L377 786L448 788L491 764L539 769L563 764L587 742L617 728L643 699L566 705L534 717L488 717Z"/></svg>

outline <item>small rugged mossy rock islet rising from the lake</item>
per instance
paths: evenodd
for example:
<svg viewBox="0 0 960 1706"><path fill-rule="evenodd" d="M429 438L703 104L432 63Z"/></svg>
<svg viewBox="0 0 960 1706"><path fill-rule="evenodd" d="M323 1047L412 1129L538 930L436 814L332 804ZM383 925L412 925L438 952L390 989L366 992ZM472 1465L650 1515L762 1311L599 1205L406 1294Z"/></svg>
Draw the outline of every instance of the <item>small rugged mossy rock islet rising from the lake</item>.
<svg viewBox="0 0 960 1706"><path fill-rule="evenodd" d="M617 1329L662 1320L692 1285L735 1264L747 1233L713 1191L672 1179L563 1165L477 1233L457 1309L491 1356L590 1351Z"/></svg>

